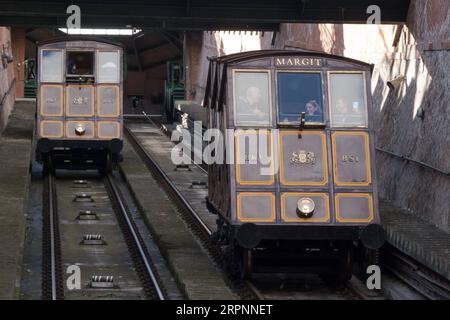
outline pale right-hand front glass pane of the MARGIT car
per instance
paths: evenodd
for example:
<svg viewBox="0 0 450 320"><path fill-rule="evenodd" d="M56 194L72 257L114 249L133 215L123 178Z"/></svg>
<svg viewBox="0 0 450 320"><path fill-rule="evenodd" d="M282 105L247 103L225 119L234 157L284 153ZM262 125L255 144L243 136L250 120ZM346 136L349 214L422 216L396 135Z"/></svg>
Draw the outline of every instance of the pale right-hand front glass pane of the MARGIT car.
<svg viewBox="0 0 450 320"><path fill-rule="evenodd" d="M331 125L367 126L367 106L362 73L330 74Z"/></svg>

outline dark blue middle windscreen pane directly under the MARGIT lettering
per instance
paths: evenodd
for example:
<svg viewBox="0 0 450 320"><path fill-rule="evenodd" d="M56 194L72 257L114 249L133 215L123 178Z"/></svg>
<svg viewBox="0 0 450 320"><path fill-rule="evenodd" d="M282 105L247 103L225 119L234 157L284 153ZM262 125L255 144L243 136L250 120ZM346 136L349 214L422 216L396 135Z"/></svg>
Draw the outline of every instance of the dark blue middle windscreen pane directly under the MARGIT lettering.
<svg viewBox="0 0 450 320"><path fill-rule="evenodd" d="M323 123L322 77L320 73L278 72L278 121Z"/></svg>

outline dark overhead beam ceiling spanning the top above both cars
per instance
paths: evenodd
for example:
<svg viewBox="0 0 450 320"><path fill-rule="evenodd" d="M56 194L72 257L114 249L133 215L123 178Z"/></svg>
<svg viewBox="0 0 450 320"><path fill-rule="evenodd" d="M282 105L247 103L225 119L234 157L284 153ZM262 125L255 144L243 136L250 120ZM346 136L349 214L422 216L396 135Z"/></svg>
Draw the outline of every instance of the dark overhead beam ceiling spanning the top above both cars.
<svg viewBox="0 0 450 320"><path fill-rule="evenodd" d="M0 25L64 27L66 8L81 8L83 28L276 30L280 23L365 23L367 7L382 23L405 22L410 0L2 0Z"/></svg>

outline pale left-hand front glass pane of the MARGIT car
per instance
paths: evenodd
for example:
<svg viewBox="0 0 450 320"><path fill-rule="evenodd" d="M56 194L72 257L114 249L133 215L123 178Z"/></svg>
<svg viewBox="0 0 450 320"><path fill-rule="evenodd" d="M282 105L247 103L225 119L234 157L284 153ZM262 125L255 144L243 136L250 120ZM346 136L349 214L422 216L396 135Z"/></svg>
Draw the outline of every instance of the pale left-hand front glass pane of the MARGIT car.
<svg viewBox="0 0 450 320"><path fill-rule="evenodd" d="M269 126L269 73L236 72L234 90L236 125Z"/></svg>

